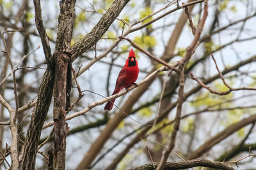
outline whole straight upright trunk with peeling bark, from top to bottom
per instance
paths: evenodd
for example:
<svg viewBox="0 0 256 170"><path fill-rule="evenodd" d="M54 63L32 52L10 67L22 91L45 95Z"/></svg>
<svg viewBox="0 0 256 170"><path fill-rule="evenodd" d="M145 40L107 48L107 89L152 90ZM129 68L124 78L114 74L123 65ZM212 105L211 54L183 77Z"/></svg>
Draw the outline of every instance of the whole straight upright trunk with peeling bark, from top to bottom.
<svg viewBox="0 0 256 170"><path fill-rule="evenodd" d="M70 41L72 38L76 0L60 1L58 32L53 58L55 60L54 94L54 143L49 157L48 169L65 169L66 138L68 125L65 122L68 109L71 81Z"/></svg>

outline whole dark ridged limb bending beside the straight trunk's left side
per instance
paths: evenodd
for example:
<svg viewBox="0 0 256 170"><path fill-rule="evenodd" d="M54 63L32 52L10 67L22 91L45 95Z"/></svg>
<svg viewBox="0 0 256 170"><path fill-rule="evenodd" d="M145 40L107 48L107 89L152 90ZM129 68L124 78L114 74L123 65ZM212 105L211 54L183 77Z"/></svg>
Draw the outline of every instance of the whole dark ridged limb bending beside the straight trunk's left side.
<svg viewBox="0 0 256 170"><path fill-rule="evenodd" d="M22 169L35 169L37 146L41 136L42 125L44 124L51 104L52 89L54 86L54 61L51 55L51 47L49 46L49 37L46 34L42 21L40 0L34 0L33 3L36 29L40 34L48 67L39 87L38 98L32 113L31 122L29 123L26 141L20 153L19 160L22 160Z"/></svg>

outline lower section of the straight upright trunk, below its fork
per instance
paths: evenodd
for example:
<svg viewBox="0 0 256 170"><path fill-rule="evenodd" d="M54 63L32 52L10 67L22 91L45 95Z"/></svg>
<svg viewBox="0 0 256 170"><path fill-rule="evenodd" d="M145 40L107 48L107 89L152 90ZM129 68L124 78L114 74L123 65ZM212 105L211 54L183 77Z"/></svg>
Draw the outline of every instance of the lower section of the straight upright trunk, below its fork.
<svg viewBox="0 0 256 170"><path fill-rule="evenodd" d="M49 164L49 169L65 169L66 157L66 137L68 134L68 125L65 122L65 108L67 97L67 72L68 61L70 57L66 53L56 56L55 68L55 94L54 94L54 144L49 157L52 159L52 164Z"/></svg>

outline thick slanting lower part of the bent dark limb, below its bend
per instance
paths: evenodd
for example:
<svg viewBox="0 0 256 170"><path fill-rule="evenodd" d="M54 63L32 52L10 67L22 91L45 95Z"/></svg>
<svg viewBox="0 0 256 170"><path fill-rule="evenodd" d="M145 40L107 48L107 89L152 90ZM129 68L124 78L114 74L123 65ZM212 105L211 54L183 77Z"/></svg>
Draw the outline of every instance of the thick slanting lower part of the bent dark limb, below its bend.
<svg viewBox="0 0 256 170"><path fill-rule="evenodd" d="M54 74L47 69L42 78L37 103L31 116L27 138L24 143L22 169L35 169L36 151L40 140L44 120L51 104L52 90L54 87Z"/></svg>

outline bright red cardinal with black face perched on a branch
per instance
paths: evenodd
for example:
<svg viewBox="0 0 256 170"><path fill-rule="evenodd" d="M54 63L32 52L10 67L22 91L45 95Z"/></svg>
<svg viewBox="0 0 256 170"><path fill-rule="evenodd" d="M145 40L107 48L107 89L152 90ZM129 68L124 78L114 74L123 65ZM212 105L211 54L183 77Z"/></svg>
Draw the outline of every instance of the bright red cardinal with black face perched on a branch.
<svg viewBox="0 0 256 170"><path fill-rule="evenodd" d="M135 53L133 50L130 50L129 57L125 61L124 67L121 69L118 78L116 80L116 87L112 95L117 94L122 89L129 87L134 83L139 74L139 67L138 62L135 57ZM111 110L113 108L113 103L115 102L115 99L112 101L108 101L106 104L104 110Z"/></svg>

